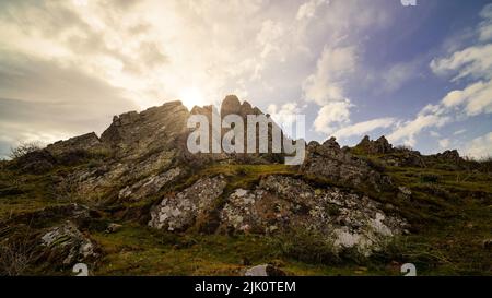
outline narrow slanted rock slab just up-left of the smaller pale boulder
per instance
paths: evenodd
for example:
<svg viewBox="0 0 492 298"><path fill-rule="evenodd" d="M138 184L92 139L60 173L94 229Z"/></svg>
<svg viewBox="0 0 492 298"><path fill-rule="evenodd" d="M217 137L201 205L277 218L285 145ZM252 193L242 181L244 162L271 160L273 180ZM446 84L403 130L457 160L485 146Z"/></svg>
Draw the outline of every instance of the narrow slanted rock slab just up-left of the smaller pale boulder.
<svg viewBox="0 0 492 298"><path fill-rule="evenodd" d="M165 184L174 181L180 174L180 168L172 168L163 174L151 175L137 183L119 191L118 198L125 200L141 200L156 193Z"/></svg>

